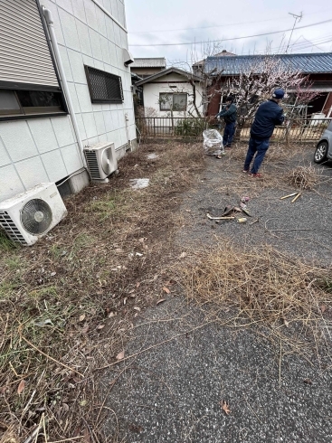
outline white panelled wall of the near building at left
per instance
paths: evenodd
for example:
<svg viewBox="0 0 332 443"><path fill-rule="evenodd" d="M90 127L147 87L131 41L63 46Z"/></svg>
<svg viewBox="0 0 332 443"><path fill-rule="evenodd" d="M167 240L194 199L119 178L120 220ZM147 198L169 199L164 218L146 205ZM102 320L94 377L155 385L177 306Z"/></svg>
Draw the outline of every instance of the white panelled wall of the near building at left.
<svg viewBox="0 0 332 443"><path fill-rule="evenodd" d="M99 0L126 27L122 0ZM136 138L129 68L123 31L92 0L40 0L52 11L62 63L83 146L114 142L123 156ZM83 65L119 75L122 104L92 104ZM128 115L126 126L125 116ZM0 121L0 202L42 182L58 182L82 167L71 116Z"/></svg>

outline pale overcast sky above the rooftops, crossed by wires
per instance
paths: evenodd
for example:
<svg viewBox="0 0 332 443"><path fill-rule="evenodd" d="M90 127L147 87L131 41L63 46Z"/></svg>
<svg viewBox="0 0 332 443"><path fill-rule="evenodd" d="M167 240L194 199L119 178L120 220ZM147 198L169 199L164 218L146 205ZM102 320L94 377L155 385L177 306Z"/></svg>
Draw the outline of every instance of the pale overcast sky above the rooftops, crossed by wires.
<svg viewBox="0 0 332 443"><path fill-rule="evenodd" d="M202 59L203 51L264 53L270 45L274 53L285 52L290 31L239 37L291 29L294 17L289 13L303 16L288 52L332 52L332 5L326 0L125 0L125 4L129 51L134 58L166 57L167 66L191 65ZM331 22L297 30L327 20ZM213 40L219 41L216 46ZM152 46L187 42L192 44ZM143 44L149 46L135 46Z"/></svg>

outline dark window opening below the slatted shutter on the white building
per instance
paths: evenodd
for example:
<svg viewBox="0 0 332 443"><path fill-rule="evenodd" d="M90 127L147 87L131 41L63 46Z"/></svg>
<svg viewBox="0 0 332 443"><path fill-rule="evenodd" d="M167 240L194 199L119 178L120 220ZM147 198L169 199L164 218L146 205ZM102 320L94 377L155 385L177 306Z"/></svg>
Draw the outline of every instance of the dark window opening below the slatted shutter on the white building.
<svg viewBox="0 0 332 443"><path fill-rule="evenodd" d="M0 89L0 118L63 112L61 92Z"/></svg>

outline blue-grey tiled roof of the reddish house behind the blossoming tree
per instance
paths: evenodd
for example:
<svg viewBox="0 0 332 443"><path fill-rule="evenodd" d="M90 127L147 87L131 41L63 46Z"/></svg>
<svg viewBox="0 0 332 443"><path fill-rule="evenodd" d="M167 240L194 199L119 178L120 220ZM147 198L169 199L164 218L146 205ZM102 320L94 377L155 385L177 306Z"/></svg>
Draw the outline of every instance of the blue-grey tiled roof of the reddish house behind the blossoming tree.
<svg viewBox="0 0 332 443"><path fill-rule="evenodd" d="M279 59L285 66L304 74L332 73L332 52L313 54L276 54L276 55L236 55L231 57L207 57L204 71L214 68L222 71L222 75L237 75L252 66L252 63L262 61L265 57Z"/></svg>

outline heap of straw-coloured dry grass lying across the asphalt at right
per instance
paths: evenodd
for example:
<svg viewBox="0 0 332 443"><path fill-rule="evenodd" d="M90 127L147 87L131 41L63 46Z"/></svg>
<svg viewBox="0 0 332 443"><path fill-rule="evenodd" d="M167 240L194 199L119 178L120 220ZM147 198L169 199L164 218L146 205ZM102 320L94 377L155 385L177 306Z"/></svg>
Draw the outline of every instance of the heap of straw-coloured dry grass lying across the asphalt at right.
<svg viewBox="0 0 332 443"><path fill-rule="evenodd" d="M331 269L308 266L270 247L240 250L227 240L187 256L175 272L190 301L213 306L214 314L235 310L233 325L269 326L279 339L280 332L288 340L290 330L295 335L300 330L299 340L292 337L298 348L326 338L322 328L332 325Z"/></svg>

